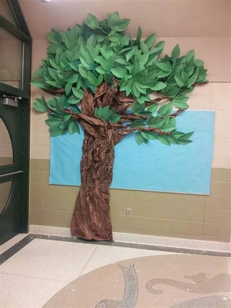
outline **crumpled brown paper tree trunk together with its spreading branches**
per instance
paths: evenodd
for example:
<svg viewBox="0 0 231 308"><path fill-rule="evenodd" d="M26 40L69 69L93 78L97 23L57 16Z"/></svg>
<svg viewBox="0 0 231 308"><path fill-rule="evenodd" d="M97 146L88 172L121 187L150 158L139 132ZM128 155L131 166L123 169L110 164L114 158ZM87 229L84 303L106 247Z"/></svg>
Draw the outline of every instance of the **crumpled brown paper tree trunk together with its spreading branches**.
<svg viewBox="0 0 231 308"><path fill-rule="evenodd" d="M117 85L117 81L114 81L114 87L104 82L96 87L95 94L90 90L85 90L80 114L65 110L72 114L74 119L78 119L84 128L83 154L80 164L81 187L71 223L71 233L78 238L113 241L109 186L113 176L114 146L125 135L136 130L163 134L158 128L128 128L122 124L126 121L147 118L147 116L125 112L134 98L127 97L124 92L118 91ZM160 96L148 102L147 105L165 98L165 96ZM95 116L95 108L105 106L110 106L121 115L118 123L105 121ZM180 112L182 110L178 110L171 116L177 116Z"/></svg>

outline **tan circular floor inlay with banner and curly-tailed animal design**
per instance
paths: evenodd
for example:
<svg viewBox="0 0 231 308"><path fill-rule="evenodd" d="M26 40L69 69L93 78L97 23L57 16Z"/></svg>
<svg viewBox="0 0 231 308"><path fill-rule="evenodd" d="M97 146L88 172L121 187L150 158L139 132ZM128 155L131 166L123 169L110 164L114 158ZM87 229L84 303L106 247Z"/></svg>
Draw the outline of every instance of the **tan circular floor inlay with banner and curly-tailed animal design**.
<svg viewBox="0 0 231 308"><path fill-rule="evenodd" d="M117 262L71 282L44 308L231 307L229 260L155 255Z"/></svg>

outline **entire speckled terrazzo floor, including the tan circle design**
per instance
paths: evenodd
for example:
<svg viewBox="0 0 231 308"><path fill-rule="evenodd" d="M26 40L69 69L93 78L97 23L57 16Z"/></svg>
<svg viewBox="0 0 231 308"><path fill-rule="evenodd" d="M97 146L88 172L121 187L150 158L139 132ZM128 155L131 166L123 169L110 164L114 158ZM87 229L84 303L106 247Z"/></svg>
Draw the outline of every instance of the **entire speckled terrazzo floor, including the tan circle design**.
<svg viewBox="0 0 231 308"><path fill-rule="evenodd" d="M231 307L229 253L21 238L2 250L3 308Z"/></svg>

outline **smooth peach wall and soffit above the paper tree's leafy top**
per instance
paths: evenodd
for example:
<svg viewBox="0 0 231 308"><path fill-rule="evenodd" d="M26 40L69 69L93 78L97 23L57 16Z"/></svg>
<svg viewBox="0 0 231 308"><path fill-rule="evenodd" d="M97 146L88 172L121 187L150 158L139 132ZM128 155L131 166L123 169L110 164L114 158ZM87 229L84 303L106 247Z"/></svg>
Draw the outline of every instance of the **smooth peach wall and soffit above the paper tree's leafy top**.
<svg viewBox="0 0 231 308"><path fill-rule="evenodd" d="M231 82L230 3L231 0L20 0L35 40L45 39L51 28L66 30L82 23L88 12L102 19L107 12L118 10L121 17L132 19L132 36L140 24L143 37L156 31L157 41L166 40L164 53L171 54L176 43L182 53L194 48L196 58L206 62L209 80L215 82Z"/></svg>

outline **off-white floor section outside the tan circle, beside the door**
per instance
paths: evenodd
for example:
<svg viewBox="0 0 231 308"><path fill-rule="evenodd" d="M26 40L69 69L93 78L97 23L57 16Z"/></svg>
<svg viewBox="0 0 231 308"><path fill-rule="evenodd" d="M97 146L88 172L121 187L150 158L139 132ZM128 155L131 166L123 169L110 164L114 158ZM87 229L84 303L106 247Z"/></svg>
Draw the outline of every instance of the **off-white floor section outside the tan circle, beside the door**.
<svg viewBox="0 0 231 308"><path fill-rule="evenodd" d="M3 244L1 252L24 236ZM158 254L174 253L36 238L0 266L0 307L41 308L69 282L91 270Z"/></svg>

